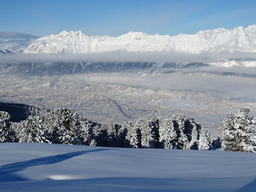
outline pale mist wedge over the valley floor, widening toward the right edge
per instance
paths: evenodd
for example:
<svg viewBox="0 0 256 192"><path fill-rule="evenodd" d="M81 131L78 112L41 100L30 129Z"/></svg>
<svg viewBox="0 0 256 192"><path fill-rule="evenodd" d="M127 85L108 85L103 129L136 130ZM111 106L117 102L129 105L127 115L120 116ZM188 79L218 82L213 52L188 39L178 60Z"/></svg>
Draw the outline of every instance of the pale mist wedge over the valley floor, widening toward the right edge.
<svg viewBox="0 0 256 192"><path fill-rule="evenodd" d="M125 85L154 91L206 93L219 99L256 101L256 68L176 69L171 74L98 73L64 75L61 80Z"/></svg>

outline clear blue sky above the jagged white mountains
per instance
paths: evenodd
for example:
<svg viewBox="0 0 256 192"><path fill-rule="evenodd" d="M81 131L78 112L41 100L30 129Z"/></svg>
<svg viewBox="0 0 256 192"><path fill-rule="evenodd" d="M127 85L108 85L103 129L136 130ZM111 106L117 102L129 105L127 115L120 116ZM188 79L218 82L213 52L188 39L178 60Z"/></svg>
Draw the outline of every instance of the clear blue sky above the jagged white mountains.
<svg viewBox="0 0 256 192"><path fill-rule="evenodd" d="M256 24L255 0L0 0L0 31L194 34Z"/></svg>

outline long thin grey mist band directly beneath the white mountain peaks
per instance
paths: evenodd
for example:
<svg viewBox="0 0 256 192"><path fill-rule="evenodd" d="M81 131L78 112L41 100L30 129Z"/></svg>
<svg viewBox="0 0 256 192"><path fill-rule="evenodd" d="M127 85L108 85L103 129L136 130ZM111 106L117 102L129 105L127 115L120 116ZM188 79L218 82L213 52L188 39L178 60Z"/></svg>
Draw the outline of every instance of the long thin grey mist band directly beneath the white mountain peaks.
<svg viewBox="0 0 256 192"><path fill-rule="evenodd" d="M255 53L202 53L189 54L182 52L136 53L136 52L108 52L108 53L83 53L83 54L48 54L17 53L1 55L0 64L20 62L174 62L174 63L209 63L219 59L256 59Z"/></svg>

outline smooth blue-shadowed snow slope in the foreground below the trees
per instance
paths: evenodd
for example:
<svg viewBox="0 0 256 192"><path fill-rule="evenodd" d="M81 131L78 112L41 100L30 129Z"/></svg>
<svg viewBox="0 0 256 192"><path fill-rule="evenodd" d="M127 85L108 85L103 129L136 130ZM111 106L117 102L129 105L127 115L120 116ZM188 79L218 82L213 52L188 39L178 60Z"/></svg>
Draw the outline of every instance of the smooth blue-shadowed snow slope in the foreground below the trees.
<svg viewBox="0 0 256 192"><path fill-rule="evenodd" d="M0 191L252 192L256 155L0 144Z"/></svg>

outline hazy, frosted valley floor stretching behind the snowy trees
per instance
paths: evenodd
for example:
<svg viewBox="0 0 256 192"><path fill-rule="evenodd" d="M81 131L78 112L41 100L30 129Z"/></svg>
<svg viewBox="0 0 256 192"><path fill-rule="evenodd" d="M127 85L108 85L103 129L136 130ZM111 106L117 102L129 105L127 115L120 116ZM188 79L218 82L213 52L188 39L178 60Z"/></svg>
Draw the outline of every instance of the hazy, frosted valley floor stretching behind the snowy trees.
<svg viewBox="0 0 256 192"><path fill-rule="evenodd" d="M256 84L254 76L211 73L0 74L0 102L50 110L72 107L80 116L99 123L123 123L151 116L169 118L183 112L208 127L216 139L219 123L227 112L249 107L255 114ZM251 73L255 74L255 69Z"/></svg>

